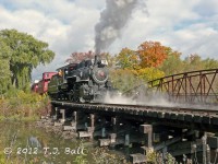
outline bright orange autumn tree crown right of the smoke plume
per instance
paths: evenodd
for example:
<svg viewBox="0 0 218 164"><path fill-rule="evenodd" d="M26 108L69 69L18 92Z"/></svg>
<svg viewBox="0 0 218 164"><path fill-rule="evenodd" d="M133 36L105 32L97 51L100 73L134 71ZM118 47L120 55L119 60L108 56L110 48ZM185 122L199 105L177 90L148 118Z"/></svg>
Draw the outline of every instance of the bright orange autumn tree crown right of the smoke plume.
<svg viewBox="0 0 218 164"><path fill-rule="evenodd" d="M155 67L160 66L167 58L167 47L161 46L158 42L145 42L138 46L138 57L141 67Z"/></svg>

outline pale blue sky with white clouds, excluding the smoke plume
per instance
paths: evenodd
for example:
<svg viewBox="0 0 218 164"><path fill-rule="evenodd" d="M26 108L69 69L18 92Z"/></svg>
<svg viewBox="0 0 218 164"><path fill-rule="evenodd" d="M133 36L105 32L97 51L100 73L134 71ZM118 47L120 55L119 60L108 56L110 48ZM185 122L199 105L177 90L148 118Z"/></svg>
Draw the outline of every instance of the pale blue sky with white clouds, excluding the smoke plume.
<svg viewBox="0 0 218 164"><path fill-rule="evenodd" d="M119 1L119 0L118 0ZM218 59L218 0L142 0L121 35L106 51L137 49L160 42L182 52ZM56 71L74 51L95 50L95 25L106 0L0 0L0 30L15 28L47 42L53 61L33 71L33 80Z"/></svg>

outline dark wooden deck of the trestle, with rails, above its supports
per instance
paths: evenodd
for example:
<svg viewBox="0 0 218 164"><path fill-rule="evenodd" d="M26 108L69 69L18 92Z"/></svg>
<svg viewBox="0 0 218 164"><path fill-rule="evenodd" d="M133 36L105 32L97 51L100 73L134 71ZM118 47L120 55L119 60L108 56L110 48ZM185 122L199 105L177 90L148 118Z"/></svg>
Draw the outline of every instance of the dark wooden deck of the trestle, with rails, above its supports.
<svg viewBox="0 0 218 164"><path fill-rule="evenodd" d="M77 104L69 102L52 101L51 104L85 110L87 113L105 113L131 119L148 120L158 119L159 121L178 121L184 124L197 124L218 126L218 108L205 107L160 107L160 106L142 106L142 105L121 105L121 104Z"/></svg>

